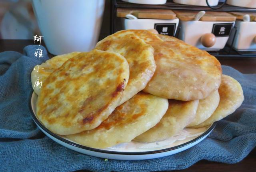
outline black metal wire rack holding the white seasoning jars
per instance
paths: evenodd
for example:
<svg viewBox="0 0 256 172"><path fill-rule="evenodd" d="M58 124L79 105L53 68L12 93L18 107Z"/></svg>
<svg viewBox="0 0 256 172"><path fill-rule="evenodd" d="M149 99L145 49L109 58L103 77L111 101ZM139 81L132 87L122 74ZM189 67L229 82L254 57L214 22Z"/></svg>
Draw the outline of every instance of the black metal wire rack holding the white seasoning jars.
<svg viewBox="0 0 256 172"><path fill-rule="evenodd" d="M113 34L116 32L116 10L117 8L147 8L147 9L170 9L170 10L194 10L194 11L222 11L222 12L256 12L255 8L244 8L237 6L230 6L220 2L218 6L215 6L213 9L208 6L191 6L184 4L176 4L172 0L168 0L166 4L162 5L147 5L147 4L132 4L124 2L121 0L112 0L111 1L111 14L110 14L110 32ZM178 36L180 26L176 31L176 36ZM237 34L237 29L234 27L231 31L231 34ZM232 40L231 46L226 45L224 49L219 51L208 51L210 54L216 57L256 57L255 51L236 51L233 48L234 39Z"/></svg>

